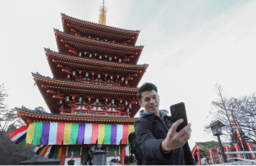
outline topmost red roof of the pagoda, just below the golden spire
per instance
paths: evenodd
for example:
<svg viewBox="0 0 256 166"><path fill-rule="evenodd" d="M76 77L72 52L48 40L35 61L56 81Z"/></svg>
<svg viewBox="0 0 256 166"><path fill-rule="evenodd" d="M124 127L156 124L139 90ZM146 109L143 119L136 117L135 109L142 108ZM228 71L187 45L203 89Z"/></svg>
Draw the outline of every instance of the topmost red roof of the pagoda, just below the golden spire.
<svg viewBox="0 0 256 166"><path fill-rule="evenodd" d="M117 43L135 45L139 36L139 30L119 29L107 25L98 25L86 20L79 20L62 14L64 32L94 38L107 38Z"/></svg>

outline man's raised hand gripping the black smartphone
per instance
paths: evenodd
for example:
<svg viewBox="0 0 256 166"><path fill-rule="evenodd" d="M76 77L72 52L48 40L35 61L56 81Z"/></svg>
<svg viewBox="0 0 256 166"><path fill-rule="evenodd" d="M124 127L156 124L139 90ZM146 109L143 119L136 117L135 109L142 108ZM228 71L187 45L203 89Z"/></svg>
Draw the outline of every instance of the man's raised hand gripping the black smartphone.
<svg viewBox="0 0 256 166"><path fill-rule="evenodd" d="M167 137L162 141L162 150L170 151L182 147L190 139L192 132L190 124L187 124L180 132L176 132L177 127L183 122L183 119L177 120L172 124L167 133Z"/></svg>

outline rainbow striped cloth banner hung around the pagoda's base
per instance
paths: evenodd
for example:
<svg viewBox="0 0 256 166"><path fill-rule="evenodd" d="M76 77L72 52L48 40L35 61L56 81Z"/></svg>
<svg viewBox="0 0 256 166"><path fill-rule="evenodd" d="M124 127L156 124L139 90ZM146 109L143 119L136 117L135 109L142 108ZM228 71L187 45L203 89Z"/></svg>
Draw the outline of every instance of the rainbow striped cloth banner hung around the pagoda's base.
<svg viewBox="0 0 256 166"><path fill-rule="evenodd" d="M11 133L11 141L42 145L39 155L59 155L61 150L54 150L53 145L103 144L127 145L134 125L91 124L91 123L42 123L35 122L16 129ZM83 141L84 140L84 141ZM51 146L52 145L52 146ZM51 153L52 152L52 153ZM52 156L53 157L53 156Z"/></svg>

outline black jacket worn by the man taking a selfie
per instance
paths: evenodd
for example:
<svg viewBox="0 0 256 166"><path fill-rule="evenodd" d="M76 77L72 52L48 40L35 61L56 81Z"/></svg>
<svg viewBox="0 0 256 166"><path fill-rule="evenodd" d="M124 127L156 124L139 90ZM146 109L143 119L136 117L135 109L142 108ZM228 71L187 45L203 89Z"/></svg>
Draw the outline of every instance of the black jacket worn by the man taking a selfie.
<svg viewBox="0 0 256 166"><path fill-rule="evenodd" d="M142 165L195 165L188 142L170 152L162 150L162 141L171 124L171 117L167 114L162 119L155 114L146 114L135 122L137 142L144 155Z"/></svg>

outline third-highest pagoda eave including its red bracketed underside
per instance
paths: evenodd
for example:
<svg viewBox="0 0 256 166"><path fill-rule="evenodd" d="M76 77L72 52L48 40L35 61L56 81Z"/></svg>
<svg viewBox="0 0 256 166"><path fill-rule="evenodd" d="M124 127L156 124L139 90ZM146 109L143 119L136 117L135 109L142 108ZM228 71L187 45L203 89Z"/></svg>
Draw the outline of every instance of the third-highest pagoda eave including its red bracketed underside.
<svg viewBox="0 0 256 166"><path fill-rule="evenodd" d="M149 65L131 65L109 61L92 60L85 57L71 56L62 53L52 52L45 49L48 63L54 78L67 79L66 75L71 75L71 80L84 80L86 82L85 73L102 74L106 79L110 75L119 74L129 80L130 87L136 87L139 84L145 70ZM74 61L76 63L74 64ZM72 71L76 71L73 75ZM120 77L121 79L121 77Z"/></svg>

